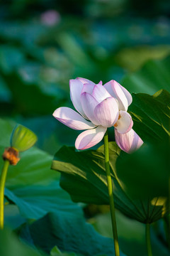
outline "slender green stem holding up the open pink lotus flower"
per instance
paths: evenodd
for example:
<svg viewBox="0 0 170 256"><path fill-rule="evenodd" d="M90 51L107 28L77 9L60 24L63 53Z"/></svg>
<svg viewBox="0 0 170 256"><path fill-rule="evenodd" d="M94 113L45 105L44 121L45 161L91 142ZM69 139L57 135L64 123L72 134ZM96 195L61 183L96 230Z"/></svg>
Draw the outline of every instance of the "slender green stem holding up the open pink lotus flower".
<svg viewBox="0 0 170 256"><path fill-rule="evenodd" d="M112 178L109 164L109 150L108 150L108 131L104 136L104 152L105 152L105 168L106 168L106 178L108 182L108 198L111 207L111 220L112 220L112 229L113 229L113 239L115 245L115 256L120 256L119 245L118 245L118 231L115 220L115 205L113 201L113 187L112 187Z"/></svg>

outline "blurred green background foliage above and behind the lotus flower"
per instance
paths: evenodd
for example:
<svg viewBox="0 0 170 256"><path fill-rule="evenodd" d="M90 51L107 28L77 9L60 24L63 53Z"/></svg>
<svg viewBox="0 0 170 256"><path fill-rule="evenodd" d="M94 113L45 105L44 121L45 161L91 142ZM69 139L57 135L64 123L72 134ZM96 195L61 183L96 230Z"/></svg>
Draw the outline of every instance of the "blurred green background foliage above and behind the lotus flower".
<svg viewBox="0 0 170 256"><path fill-rule="evenodd" d="M72 107L69 79L168 90L169 11L166 0L1 1L1 116L33 129L38 146L54 154L77 134L52 117Z"/></svg>

